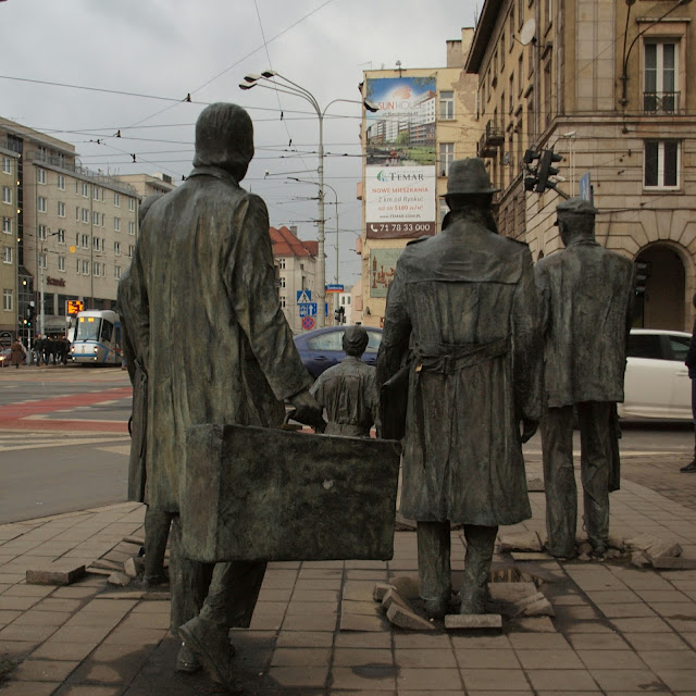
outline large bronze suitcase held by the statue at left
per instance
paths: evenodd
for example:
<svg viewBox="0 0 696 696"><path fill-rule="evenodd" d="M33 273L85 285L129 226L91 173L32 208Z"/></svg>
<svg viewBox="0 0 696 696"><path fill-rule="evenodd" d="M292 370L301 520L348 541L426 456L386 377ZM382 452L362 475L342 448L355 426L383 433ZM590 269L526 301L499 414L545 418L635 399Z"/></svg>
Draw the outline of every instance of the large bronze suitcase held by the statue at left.
<svg viewBox="0 0 696 696"><path fill-rule="evenodd" d="M399 458L394 440L194 425L183 552L203 562L388 560Z"/></svg>

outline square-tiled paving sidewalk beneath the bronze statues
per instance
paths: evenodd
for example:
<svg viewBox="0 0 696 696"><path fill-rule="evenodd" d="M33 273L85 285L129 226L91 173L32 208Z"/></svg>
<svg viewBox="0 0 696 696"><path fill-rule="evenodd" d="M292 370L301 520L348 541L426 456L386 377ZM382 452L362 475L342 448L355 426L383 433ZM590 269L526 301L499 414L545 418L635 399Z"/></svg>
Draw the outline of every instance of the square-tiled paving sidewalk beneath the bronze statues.
<svg viewBox="0 0 696 696"><path fill-rule="evenodd" d="M538 461L527 465L538 475ZM632 476L633 477L633 476ZM692 500L696 476L684 478ZM534 517L506 532L544 533ZM611 532L676 538L696 558L696 510L633 481L611 498ZM103 575L66 586L27 585L27 569L57 559L89 563L141 534L144 508L123 504L0 526L2 696L217 696L203 673L173 671L178 642L169 601L107 588ZM455 579L463 568L452 533ZM389 562L273 563L251 627L233 631L247 696L556 696L646 692L696 696L696 571L625 562L519 562L548 582L556 618L508 620L502 632L390 629L372 600L377 581L417 570L412 532ZM17 663L12 669L12 664Z"/></svg>

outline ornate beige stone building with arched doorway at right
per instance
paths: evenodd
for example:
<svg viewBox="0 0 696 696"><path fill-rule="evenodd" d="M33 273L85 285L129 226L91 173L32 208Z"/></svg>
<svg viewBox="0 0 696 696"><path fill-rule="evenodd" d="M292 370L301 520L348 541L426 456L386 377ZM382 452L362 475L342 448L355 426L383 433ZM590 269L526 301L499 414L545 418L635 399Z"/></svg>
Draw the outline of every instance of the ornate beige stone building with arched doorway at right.
<svg viewBox="0 0 696 696"><path fill-rule="evenodd" d="M500 232L534 259L561 247L559 195L524 190L524 152L554 148L558 188L592 199L597 240L647 276L636 326L692 327L695 18L679 0L486 0L467 61Z"/></svg>

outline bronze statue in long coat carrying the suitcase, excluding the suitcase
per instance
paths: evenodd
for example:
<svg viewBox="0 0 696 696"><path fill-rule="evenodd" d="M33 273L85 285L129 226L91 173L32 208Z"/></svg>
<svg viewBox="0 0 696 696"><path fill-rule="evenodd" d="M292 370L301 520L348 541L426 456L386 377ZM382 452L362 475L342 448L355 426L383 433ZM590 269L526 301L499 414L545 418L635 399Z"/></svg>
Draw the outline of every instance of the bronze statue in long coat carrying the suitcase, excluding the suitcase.
<svg viewBox="0 0 696 696"><path fill-rule="evenodd" d="M145 501L152 509L178 513L187 495L189 425L276 426L286 398L298 420L321 420L279 307L266 207L239 186L252 157L247 112L208 107L196 123L192 172L144 220L123 297L148 377ZM249 625L265 563L188 561L178 551L181 524L175 517L170 574L172 625L185 642L177 664L190 670L198 658L233 687L228 631Z"/></svg>

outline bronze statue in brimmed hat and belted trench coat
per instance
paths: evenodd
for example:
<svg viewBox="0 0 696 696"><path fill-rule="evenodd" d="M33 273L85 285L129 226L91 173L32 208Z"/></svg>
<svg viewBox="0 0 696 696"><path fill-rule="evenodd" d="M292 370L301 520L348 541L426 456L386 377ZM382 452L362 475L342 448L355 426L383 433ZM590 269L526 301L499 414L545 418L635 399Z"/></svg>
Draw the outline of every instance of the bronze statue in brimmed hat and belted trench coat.
<svg viewBox="0 0 696 696"><path fill-rule="evenodd" d="M462 613L483 613L500 524L532 517L523 437L542 415L540 336L526 245L490 229L483 160L450 167L442 234L407 245L389 287L383 385L410 361L401 513L418 522L421 597L451 598L450 522L464 524Z"/></svg>

